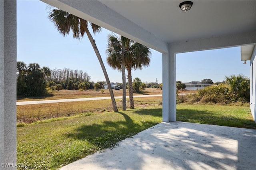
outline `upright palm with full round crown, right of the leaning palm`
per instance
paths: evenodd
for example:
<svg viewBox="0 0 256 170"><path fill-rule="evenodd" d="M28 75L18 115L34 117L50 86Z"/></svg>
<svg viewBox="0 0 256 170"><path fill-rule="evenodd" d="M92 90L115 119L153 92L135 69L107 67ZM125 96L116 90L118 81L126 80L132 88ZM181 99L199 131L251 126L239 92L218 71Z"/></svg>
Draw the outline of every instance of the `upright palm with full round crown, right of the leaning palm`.
<svg viewBox="0 0 256 170"><path fill-rule="evenodd" d="M118 38L113 34L108 37L108 40L107 63L118 70L122 69L121 65L125 65L128 77L130 108L134 109L132 69L147 67L150 64L151 51L148 47L123 36Z"/></svg>

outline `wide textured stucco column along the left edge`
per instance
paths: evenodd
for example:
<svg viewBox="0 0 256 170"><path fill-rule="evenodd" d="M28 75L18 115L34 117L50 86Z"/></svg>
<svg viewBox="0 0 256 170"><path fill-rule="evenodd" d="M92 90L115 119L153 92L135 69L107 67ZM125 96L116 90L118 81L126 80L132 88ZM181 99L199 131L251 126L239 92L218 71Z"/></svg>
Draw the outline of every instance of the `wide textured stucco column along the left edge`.
<svg viewBox="0 0 256 170"><path fill-rule="evenodd" d="M16 0L0 0L0 170L16 169Z"/></svg>

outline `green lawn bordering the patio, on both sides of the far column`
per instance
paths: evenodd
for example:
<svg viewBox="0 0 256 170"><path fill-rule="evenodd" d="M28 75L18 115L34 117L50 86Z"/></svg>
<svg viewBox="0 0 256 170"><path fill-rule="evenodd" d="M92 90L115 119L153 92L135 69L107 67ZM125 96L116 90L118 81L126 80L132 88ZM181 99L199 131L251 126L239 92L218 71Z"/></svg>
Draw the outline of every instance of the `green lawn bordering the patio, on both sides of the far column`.
<svg viewBox="0 0 256 170"><path fill-rule="evenodd" d="M17 127L18 169L57 169L162 122L162 106L81 113ZM255 128L249 107L177 105L177 121Z"/></svg>

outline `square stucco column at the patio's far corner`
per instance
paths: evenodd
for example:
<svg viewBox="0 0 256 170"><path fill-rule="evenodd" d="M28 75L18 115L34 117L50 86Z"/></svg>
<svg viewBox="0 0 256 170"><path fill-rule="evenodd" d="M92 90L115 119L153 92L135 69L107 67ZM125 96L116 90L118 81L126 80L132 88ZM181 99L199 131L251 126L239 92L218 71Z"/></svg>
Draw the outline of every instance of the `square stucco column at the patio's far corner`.
<svg viewBox="0 0 256 170"><path fill-rule="evenodd" d="M163 121L176 121L176 54L163 53Z"/></svg>

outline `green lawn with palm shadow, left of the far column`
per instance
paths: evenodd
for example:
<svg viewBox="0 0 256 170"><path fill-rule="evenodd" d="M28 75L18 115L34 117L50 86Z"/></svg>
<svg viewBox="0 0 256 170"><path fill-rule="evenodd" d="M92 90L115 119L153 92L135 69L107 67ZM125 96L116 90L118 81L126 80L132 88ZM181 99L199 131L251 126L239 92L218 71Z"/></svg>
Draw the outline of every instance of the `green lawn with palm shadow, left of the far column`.
<svg viewBox="0 0 256 170"><path fill-rule="evenodd" d="M17 128L17 162L27 169L56 169L162 121L161 107L80 114ZM20 168L20 169L24 169Z"/></svg>

